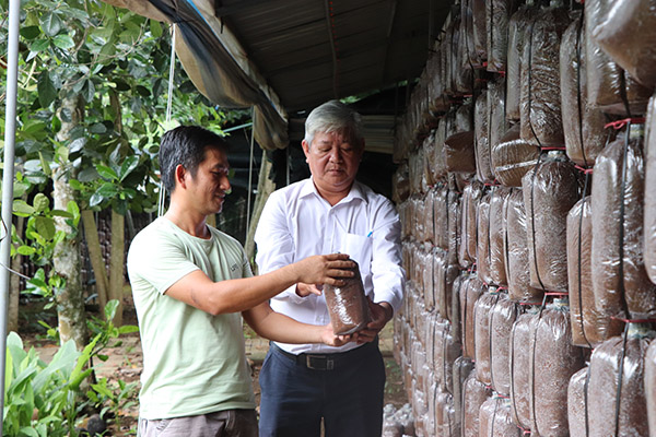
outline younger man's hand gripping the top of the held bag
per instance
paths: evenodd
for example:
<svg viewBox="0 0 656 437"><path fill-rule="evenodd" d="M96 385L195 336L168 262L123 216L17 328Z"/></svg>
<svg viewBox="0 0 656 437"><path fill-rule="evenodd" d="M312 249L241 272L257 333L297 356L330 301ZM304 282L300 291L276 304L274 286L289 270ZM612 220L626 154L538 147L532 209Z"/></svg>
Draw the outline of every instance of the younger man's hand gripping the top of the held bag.
<svg viewBox="0 0 656 437"><path fill-rule="evenodd" d="M315 255L292 264L297 274L296 282L306 284L329 284L341 286L340 277L353 277L353 261L348 261L347 253Z"/></svg>

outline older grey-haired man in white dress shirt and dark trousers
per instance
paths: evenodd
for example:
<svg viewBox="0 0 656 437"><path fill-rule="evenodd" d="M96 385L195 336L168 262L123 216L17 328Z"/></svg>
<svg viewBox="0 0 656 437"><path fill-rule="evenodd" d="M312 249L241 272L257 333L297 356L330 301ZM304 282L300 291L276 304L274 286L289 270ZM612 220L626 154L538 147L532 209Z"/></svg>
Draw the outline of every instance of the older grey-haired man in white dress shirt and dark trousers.
<svg viewBox="0 0 656 437"><path fill-rule="evenodd" d="M377 334L402 299L400 222L389 200L355 181L364 152L360 115L331 101L305 123L312 177L277 190L255 241L260 273L312 255L342 252L358 261L373 321L341 347L271 343L260 373L260 437L379 437L385 366ZM271 307L304 323L329 322L314 284L298 283Z"/></svg>

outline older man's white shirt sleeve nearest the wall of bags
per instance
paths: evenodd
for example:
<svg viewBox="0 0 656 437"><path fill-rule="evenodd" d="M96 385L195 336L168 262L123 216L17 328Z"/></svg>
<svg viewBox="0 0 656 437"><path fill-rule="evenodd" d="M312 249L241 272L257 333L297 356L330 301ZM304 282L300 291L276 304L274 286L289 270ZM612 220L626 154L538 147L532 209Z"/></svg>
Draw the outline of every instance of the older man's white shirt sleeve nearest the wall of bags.
<svg viewBox="0 0 656 437"><path fill-rule="evenodd" d="M374 303L387 302L397 312L403 298L406 271L401 267L401 222L387 199L376 212L372 228Z"/></svg>

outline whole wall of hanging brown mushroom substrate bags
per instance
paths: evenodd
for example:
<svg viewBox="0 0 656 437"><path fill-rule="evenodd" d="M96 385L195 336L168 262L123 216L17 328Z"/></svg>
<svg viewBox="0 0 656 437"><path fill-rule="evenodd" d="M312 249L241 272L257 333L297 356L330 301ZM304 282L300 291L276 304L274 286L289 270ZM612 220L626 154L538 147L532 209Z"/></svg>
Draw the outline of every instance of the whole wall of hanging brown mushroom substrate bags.
<svg viewBox="0 0 656 437"><path fill-rule="evenodd" d="M656 0L461 0L396 129L418 436L656 437Z"/></svg>

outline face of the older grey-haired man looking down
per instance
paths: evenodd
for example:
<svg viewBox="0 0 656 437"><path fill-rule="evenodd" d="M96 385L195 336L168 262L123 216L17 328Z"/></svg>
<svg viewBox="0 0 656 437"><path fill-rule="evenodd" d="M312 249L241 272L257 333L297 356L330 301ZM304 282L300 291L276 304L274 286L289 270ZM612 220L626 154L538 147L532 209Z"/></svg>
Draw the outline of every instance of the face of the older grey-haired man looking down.
<svg viewBox="0 0 656 437"><path fill-rule="evenodd" d="M342 132L316 132L312 144L303 141L303 151L319 193L345 197L355 180L364 144Z"/></svg>

